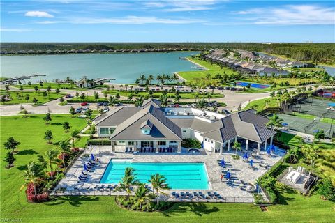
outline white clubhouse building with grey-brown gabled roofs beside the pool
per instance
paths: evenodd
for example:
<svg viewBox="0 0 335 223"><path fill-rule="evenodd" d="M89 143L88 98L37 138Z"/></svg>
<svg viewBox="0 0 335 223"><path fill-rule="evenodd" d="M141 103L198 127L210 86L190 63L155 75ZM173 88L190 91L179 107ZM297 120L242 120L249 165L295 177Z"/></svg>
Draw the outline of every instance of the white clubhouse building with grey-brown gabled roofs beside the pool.
<svg viewBox="0 0 335 223"><path fill-rule="evenodd" d="M183 139L198 139L204 150L220 153L232 150L239 141L246 150L259 154L272 145L276 132L266 127L267 118L252 109L230 115L191 107L162 107L156 99L142 107L121 107L102 114L94 122L98 137L108 138L113 152L184 153Z"/></svg>

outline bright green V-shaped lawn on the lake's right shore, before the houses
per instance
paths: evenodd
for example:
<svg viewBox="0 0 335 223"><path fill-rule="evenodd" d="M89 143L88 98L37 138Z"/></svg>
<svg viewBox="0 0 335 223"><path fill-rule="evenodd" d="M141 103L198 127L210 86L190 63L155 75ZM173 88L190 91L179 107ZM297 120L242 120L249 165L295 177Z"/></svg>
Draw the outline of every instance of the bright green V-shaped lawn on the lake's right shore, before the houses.
<svg viewBox="0 0 335 223"><path fill-rule="evenodd" d="M211 63L209 61L204 61L198 58L190 59L191 61L195 63L199 63L200 65L204 66L208 70L194 70L194 71L183 71L178 72L178 75L184 79L186 79L187 82L193 80L193 79L206 79L206 75L210 74L212 78L214 78L215 75L224 73L227 75L231 74L237 74L237 72L234 72L234 70L231 70L230 68L221 68L221 66L218 66L215 63Z"/></svg>

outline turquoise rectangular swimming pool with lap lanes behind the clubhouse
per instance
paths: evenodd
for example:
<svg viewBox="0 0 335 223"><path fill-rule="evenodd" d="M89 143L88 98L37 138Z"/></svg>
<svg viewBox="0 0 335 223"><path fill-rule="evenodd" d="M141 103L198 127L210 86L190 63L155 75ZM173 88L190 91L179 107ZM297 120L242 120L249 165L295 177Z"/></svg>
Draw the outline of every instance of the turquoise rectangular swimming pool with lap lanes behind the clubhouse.
<svg viewBox="0 0 335 223"><path fill-rule="evenodd" d="M135 169L137 180L149 183L151 175L161 174L172 189L209 189L206 167L203 162L131 162L110 160L100 183L119 183L126 167Z"/></svg>

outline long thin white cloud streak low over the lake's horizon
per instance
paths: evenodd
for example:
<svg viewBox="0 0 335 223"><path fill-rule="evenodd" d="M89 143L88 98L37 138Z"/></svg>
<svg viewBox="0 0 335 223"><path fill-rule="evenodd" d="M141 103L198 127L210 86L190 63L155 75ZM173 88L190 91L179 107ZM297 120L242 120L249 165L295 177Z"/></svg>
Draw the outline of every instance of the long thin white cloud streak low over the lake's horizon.
<svg viewBox="0 0 335 223"><path fill-rule="evenodd" d="M38 24L57 24L57 23L70 23L70 24L191 24L197 22L204 22L203 20L190 20L190 19L165 19L158 17L141 17L141 16L127 16L115 18L87 18L77 17L68 20L59 21L42 21L36 22Z"/></svg>

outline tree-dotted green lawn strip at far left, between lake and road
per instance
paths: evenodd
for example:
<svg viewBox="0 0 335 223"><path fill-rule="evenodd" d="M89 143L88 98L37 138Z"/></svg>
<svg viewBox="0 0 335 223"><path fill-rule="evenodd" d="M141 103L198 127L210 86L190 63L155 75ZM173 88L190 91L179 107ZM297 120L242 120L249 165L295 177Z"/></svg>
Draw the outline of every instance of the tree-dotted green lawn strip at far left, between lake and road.
<svg viewBox="0 0 335 223"><path fill-rule="evenodd" d="M61 96L65 95L64 93L54 93L50 92L48 96L44 97L43 92L40 91L40 93L34 91L34 92L22 92L21 91L9 91L12 100L8 102L4 102L2 104L5 105L15 105L15 104L24 104L24 103L33 103L33 98L36 98L38 100L38 104L44 104L45 102L50 102L50 100L55 100L57 98L61 98ZM4 95L5 91L1 90L0 95ZM25 96L29 95L29 100L25 100ZM21 96L21 99L19 99L19 95Z"/></svg>

